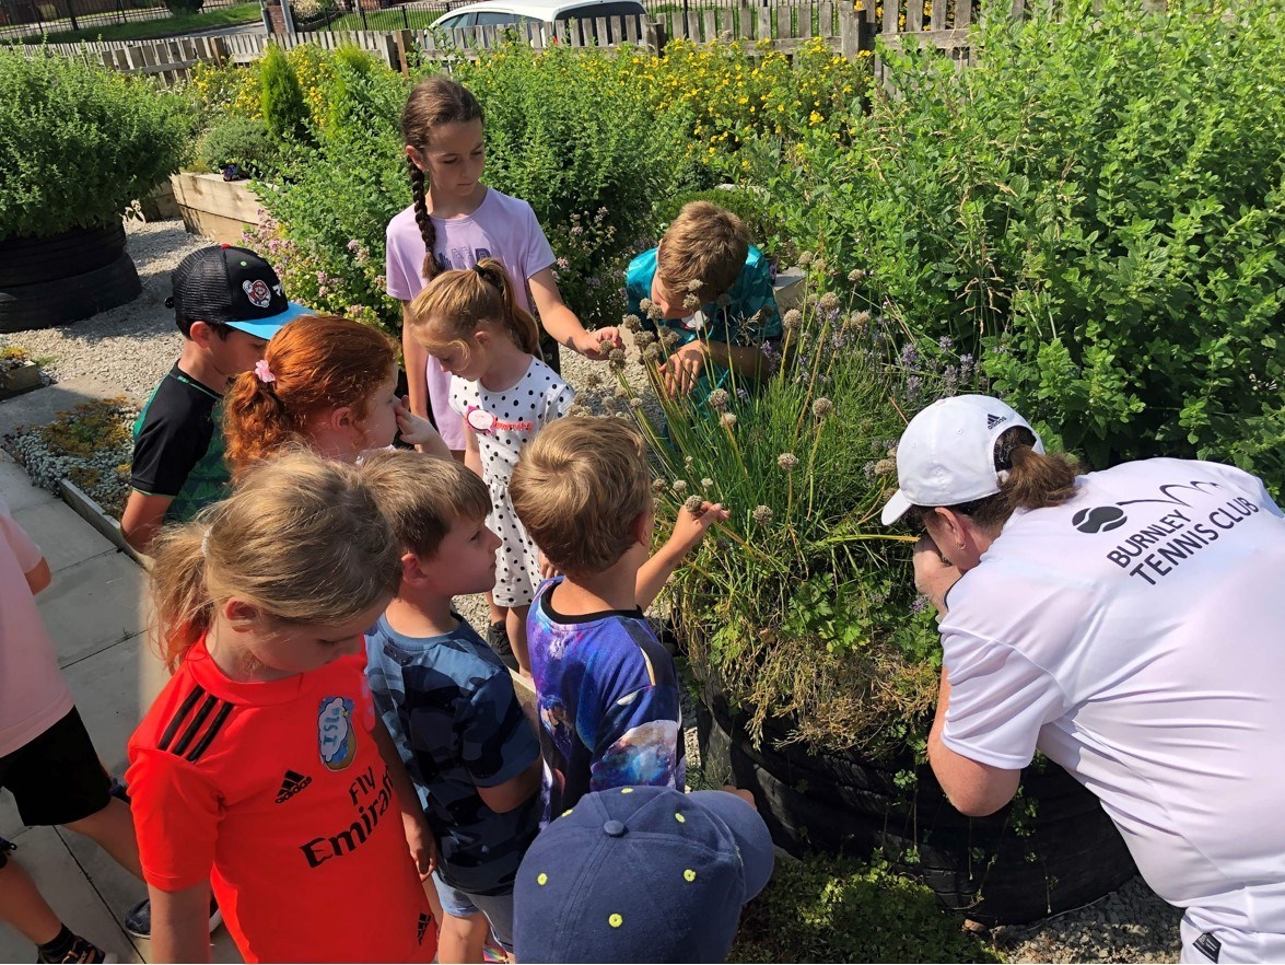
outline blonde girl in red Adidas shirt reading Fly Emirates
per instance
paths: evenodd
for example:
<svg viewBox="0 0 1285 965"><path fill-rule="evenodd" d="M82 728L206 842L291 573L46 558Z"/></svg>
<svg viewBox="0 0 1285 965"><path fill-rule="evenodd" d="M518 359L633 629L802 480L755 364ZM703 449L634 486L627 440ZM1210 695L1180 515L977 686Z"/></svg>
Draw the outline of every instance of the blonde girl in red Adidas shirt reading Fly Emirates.
<svg viewBox="0 0 1285 965"><path fill-rule="evenodd" d="M157 961L209 960L211 887L245 961L433 960L432 834L364 673L400 572L357 469L302 451L162 536L175 675L127 774Z"/></svg>

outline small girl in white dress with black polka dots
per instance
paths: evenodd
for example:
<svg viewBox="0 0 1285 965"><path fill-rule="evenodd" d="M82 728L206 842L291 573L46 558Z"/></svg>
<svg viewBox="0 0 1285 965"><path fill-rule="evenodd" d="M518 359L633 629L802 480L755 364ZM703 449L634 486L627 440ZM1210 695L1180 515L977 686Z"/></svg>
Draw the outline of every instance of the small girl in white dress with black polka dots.
<svg viewBox="0 0 1285 965"><path fill-rule="evenodd" d="M518 306L513 280L495 258L443 271L410 305L410 333L451 375L451 409L464 419L464 464L491 490L487 526L496 553L495 601L505 608L513 655L523 675L527 608L540 580L540 551L518 522L509 479L523 447L567 414L572 388L540 359L540 330Z"/></svg>

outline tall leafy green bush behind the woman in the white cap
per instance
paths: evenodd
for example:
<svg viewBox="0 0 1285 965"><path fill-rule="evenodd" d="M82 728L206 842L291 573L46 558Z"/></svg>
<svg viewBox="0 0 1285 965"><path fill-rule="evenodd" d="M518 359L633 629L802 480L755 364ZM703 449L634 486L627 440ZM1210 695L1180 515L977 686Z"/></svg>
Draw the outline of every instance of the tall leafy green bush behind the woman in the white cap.
<svg viewBox="0 0 1285 965"><path fill-rule="evenodd" d="M986 21L979 64L888 51L900 95L757 170L801 244L978 355L1097 466L1285 478L1285 19L1076 0Z"/></svg>

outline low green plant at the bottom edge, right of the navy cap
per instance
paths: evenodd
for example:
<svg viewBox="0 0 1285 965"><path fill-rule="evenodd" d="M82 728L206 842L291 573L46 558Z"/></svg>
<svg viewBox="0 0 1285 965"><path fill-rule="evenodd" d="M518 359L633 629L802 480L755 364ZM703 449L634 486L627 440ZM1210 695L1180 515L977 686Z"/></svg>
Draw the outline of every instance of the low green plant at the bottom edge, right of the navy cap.
<svg viewBox="0 0 1285 965"><path fill-rule="evenodd" d="M777 861L745 906L729 961L1004 961L933 892L882 863Z"/></svg>

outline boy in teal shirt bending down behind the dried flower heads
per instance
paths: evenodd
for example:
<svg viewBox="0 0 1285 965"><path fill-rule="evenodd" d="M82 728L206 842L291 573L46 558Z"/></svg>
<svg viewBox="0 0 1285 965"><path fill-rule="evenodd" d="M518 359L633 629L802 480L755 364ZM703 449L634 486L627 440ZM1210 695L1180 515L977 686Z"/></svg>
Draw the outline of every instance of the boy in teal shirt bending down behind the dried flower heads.
<svg viewBox="0 0 1285 965"><path fill-rule="evenodd" d="M759 343L781 334L767 257L736 215L694 200L660 244L625 272L628 312L668 346L663 389L698 398L735 378L757 379ZM666 333L672 333L667 335Z"/></svg>

